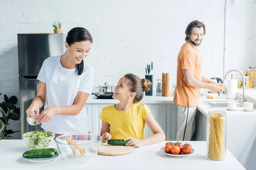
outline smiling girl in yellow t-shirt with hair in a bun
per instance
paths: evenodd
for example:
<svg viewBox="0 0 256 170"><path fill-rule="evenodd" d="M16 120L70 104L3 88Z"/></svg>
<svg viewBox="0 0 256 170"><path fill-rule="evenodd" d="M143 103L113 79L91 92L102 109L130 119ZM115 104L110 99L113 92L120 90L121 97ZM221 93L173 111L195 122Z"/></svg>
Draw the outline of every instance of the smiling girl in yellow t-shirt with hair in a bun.
<svg viewBox="0 0 256 170"><path fill-rule="evenodd" d="M134 74L126 74L119 79L113 94L119 104L103 108L100 115L103 142L107 142L106 139L130 139L127 146L141 147L165 140L165 134L148 106L139 103L143 92L149 91L151 85L147 79L140 79ZM147 138L144 138L145 124L153 133Z"/></svg>

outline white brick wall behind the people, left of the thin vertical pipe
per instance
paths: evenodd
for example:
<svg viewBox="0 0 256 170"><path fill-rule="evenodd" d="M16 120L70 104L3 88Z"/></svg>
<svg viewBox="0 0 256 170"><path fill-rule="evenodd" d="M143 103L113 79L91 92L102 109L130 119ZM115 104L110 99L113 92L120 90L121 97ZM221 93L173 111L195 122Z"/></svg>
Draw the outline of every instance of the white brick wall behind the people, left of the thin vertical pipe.
<svg viewBox="0 0 256 170"><path fill-rule="evenodd" d="M129 72L144 77L151 61L155 83L162 72L176 82L177 54L187 24L195 19L207 28L199 47L203 74L223 77L224 0L0 0L0 93L18 97L17 33L52 33L54 20L62 22L65 34L77 26L92 34L86 60L95 68L94 86L116 85Z"/></svg>

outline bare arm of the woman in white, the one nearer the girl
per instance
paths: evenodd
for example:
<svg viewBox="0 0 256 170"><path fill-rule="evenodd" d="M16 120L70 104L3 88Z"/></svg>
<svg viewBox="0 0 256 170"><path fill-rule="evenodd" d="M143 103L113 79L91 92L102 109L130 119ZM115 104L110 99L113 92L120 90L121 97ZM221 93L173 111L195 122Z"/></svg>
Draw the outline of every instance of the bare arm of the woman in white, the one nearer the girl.
<svg viewBox="0 0 256 170"><path fill-rule="evenodd" d="M49 122L54 114L75 116L80 113L84 104L88 99L89 94L79 91L76 95L73 105L70 106L51 106L44 109L39 116L37 116L37 122L40 124L42 122Z"/></svg>

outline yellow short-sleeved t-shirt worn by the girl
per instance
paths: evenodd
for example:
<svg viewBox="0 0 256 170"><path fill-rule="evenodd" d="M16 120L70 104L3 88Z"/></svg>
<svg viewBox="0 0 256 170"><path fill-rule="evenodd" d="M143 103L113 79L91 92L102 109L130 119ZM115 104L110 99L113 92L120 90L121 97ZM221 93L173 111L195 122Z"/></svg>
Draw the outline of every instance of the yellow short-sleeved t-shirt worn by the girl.
<svg viewBox="0 0 256 170"><path fill-rule="evenodd" d="M125 139L134 137L137 139L144 138L145 117L151 113L147 105L133 103L125 111L118 111L115 105L102 109L100 119L110 124L111 139Z"/></svg>

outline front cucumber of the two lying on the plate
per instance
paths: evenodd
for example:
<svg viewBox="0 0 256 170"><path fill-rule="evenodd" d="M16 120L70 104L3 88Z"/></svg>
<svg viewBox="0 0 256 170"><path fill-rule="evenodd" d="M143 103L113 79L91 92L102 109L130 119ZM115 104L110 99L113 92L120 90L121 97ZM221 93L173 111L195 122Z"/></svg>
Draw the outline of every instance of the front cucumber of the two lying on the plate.
<svg viewBox="0 0 256 170"><path fill-rule="evenodd" d="M55 153L50 150L28 150L22 156L24 158L49 158L54 155Z"/></svg>

